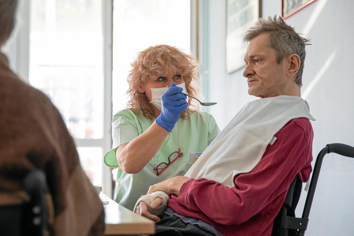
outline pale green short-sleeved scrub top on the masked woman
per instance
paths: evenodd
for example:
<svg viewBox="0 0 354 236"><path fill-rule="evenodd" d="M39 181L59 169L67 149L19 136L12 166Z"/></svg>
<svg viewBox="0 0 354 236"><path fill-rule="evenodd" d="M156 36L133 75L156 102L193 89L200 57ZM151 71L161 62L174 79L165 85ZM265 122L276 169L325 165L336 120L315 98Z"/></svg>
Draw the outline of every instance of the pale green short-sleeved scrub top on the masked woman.
<svg viewBox="0 0 354 236"><path fill-rule="evenodd" d="M155 121L155 118L145 117L142 111L135 114L130 109L121 110L113 116L113 149L105 154L104 163L109 167L118 167L116 202L133 210L138 198L148 192L150 185L176 175L184 175L193 164L193 162L189 162L190 152L203 152L220 132L214 117L208 113L195 111L192 115L187 114L187 116L188 120L179 119L155 154L156 165L161 162L168 163L167 158L179 147L178 126L180 125L183 155L160 175L156 175L156 171L153 171L154 157L139 173L127 174L119 168L115 155L115 150L120 145L131 142L145 132Z"/></svg>

